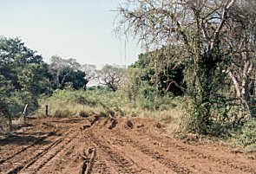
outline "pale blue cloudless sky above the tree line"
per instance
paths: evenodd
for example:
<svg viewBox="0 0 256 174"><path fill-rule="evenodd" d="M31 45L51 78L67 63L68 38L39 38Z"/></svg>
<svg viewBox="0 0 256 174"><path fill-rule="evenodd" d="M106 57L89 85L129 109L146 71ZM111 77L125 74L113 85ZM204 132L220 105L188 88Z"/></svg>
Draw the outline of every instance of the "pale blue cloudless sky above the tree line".
<svg viewBox="0 0 256 174"><path fill-rule="evenodd" d="M52 55L81 64L129 65L141 48L114 33L125 0L0 0L0 35L20 37L49 62ZM125 51L126 42L126 51Z"/></svg>

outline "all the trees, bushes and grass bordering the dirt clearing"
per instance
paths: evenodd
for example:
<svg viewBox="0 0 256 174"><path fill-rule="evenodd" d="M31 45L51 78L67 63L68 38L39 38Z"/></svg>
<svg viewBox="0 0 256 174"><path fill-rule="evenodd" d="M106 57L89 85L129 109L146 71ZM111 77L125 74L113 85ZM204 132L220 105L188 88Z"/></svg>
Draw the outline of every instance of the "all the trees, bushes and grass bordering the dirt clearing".
<svg viewBox="0 0 256 174"><path fill-rule="evenodd" d="M42 115L48 105L54 117L154 118L173 132L235 137L254 151L255 8L254 1L127 1L117 32L135 34L146 50L128 68L97 70L58 55L47 64L21 39L1 37L0 132L26 104ZM93 79L101 87L88 87Z"/></svg>

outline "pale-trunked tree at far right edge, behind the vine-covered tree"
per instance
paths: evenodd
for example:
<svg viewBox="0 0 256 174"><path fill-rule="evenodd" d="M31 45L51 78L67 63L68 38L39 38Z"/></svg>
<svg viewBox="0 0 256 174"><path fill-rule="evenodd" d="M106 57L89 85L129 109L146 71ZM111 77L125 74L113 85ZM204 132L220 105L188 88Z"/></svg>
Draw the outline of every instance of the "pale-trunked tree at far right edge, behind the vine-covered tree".
<svg viewBox="0 0 256 174"><path fill-rule="evenodd" d="M255 116L256 82L256 23L255 1L240 1L235 4L230 16L226 45L233 50L226 73L233 82L235 97L240 101L244 117ZM253 94L254 93L254 94ZM254 99L254 100L253 100ZM241 118L243 119L243 118Z"/></svg>

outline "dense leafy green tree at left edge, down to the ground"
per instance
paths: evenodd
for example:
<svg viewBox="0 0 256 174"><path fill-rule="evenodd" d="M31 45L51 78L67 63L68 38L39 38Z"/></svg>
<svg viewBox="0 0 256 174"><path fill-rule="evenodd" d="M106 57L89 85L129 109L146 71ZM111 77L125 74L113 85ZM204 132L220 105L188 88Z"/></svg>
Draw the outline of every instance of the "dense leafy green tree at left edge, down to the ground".
<svg viewBox="0 0 256 174"><path fill-rule="evenodd" d="M20 38L0 38L0 119L9 130L11 117L21 113L25 104L30 112L37 108L38 94L49 85L45 65L43 57Z"/></svg>

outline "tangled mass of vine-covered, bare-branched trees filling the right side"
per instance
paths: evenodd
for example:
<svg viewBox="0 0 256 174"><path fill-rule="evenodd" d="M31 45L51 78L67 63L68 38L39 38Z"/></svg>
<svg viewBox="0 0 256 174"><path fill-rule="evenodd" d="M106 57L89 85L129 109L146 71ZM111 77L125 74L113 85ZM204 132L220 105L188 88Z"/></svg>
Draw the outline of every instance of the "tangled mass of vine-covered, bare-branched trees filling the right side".
<svg viewBox="0 0 256 174"><path fill-rule="evenodd" d="M184 68L187 128L207 134L220 120L255 117L255 7L245 0L126 1L118 8L116 30L139 37L148 54L164 45L162 56L149 61L154 66L148 79L154 74L160 86L163 63Z"/></svg>

